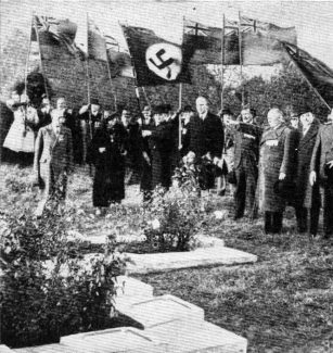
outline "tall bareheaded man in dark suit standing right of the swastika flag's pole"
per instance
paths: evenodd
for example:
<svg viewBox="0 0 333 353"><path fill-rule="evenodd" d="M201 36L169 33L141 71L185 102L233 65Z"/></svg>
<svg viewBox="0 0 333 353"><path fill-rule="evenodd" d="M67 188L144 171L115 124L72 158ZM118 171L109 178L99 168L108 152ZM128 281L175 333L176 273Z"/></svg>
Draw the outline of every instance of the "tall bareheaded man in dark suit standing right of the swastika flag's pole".
<svg viewBox="0 0 333 353"><path fill-rule="evenodd" d="M197 115L193 115L188 124L189 153L193 152L197 163L203 159L217 163L223 151L223 126L220 118L209 112L208 101L205 97L196 99ZM210 173L207 173L207 175ZM215 175L206 178L206 189L213 189Z"/></svg>

